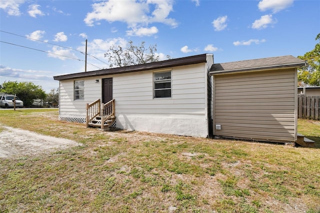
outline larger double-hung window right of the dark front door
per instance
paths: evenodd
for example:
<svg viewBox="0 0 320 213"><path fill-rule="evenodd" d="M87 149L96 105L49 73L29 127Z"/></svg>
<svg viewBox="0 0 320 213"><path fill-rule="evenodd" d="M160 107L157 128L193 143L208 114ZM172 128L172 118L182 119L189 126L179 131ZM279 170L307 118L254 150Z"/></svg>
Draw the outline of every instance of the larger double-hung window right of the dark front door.
<svg viewBox="0 0 320 213"><path fill-rule="evenodd" d="M153 73L153 98L171 97L171 71Z"/></svg>

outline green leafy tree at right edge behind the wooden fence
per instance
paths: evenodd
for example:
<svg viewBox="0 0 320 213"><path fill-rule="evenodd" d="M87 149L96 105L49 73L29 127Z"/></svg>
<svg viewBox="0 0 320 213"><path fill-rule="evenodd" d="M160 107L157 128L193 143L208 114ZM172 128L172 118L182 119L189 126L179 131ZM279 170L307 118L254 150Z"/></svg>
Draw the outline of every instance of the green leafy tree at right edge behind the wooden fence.
<svg viewBox="0 0 320 213"><path fill-rule="evenodd" d="M298 71L298 85L320 86L320 33L317 34L315 40L319 40L315 44L314 49L306 52L298 58L305 60L307 64Z"/></svg>

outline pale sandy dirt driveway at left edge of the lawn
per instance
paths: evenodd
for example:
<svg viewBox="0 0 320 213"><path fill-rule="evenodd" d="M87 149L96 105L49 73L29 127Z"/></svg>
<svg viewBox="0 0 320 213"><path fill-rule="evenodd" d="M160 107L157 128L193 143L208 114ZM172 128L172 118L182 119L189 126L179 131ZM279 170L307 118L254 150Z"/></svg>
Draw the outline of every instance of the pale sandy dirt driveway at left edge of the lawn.
<svg viewBox="0 0 320 213"><path fill-rule="evenodd" d="M2 127L5 130L0 132L1 158L33 155L82 145L69 139L41 135L9 126L2 125Z"/></svg>

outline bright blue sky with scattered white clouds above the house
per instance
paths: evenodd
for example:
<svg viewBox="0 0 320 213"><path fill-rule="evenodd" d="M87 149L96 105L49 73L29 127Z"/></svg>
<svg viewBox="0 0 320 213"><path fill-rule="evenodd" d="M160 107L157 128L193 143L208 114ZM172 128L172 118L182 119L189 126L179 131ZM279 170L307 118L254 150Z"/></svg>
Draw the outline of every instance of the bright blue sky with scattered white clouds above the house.
<svg viewBox="0 0 320 213"><path fill-rule="evenodd" d="M303 55L320 32L318 0L0 0L0 84L108 68L112 44L145 41L161 59L214 62ZM43 42L44 41L44 42ZM51 54L51 53L53 54Z"/></svg>

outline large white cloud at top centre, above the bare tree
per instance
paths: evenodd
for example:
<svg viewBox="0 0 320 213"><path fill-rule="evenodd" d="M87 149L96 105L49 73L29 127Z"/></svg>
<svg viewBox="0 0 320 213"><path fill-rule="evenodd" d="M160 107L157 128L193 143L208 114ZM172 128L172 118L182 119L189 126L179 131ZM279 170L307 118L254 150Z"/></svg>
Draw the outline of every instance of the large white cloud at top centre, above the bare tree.
<svg viewBox="0 0 320 213"><path fill-rule="evenodd" d="M89 26L93 26L94 24L99 24L100 20L109 22L121 21L132 29L132 33L134 29L147 29L146 26L152 22L160 22L176 27L176 21L168 17L173 10L172 5L172 0L108 0L93 3L92 11L86 14L84 22ZM154 32L154 28L152 30ZM149 35L149 33L146 34Z"/></svg>

